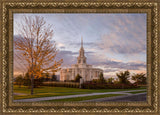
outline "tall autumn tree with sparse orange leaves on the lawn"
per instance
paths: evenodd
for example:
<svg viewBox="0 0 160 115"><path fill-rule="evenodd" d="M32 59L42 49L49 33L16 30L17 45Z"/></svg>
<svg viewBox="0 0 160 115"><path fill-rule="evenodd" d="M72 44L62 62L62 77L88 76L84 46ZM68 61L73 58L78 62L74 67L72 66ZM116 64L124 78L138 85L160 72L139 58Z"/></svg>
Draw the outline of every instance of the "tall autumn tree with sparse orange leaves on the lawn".
<svg viewBox="0 0 160 115"><path fill-rule="evenodd" d="M31 78L31 95L33 95L34 78L43 73L57 72L63 62L56 61L58 53L55 41L52 40L52 25L47 25L43 17L24 16L18 25L18 36L15 37L15 52L23 60Z"/></svg>

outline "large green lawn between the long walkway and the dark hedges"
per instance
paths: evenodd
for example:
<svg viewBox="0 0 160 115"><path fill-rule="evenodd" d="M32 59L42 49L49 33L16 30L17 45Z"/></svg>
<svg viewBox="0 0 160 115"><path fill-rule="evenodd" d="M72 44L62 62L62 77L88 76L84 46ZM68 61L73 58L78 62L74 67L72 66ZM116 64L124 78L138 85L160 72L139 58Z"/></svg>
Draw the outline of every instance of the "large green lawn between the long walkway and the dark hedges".
<svg viewBox="0 0 160 115"><path fill-rule="evenodd" d="M128 90L137 90L137 89L146 89L146 87L135 88L135 89L79 89L79 88L42 86L40 88L34 88L34 95L30 95L30 89L28 89L26 86L21 86L21 88L19 88L17 85L13 86L14 93L25 94L25 95L14 95L14 99L27 99L27 98L77 95L77 94L88 94L88 93L128 91Z"/></svg>

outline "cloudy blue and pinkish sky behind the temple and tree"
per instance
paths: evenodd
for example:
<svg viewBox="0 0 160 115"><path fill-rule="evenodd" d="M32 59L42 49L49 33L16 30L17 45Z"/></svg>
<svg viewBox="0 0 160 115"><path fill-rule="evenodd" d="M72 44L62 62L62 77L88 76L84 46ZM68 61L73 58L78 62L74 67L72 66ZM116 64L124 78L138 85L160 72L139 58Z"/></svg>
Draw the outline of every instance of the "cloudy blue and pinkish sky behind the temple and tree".
<svg viewBox="0 0 160 115"><path fill-rule="evenodd" d="M105 77L117 72L146 72L146 14L14 14L14 35L22 16L43 16L53 25L63 67L76 63L83 37L87 63L104 70Z"/></svg>

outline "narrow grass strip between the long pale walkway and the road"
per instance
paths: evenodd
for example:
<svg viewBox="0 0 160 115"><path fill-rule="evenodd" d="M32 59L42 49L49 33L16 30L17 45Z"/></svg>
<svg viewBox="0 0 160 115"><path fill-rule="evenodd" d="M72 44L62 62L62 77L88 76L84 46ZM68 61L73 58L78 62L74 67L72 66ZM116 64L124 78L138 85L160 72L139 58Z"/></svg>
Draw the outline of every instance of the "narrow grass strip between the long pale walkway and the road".
<svg viewBox="0 0 160 115"><path fill-rule="evenodd" d="M91 100L97 98L105 98L105 97L113 97L113 96L121 96L123 94L105 94L105 95L94 95L94 96L85 96L85 97L75 97L75 98L67 98L67 99L56 99L56 100L48 100L45 102L71 102L71 101L84 101Z"/></svg>

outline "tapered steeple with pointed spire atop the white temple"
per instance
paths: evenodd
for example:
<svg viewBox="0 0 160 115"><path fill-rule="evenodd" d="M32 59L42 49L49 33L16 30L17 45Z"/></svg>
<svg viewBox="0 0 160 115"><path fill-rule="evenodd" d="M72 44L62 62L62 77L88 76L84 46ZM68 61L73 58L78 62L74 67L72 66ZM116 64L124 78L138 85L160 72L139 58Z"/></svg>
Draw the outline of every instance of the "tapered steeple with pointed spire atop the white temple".
<svg viewBox="0 0 160 115"><path fill-rule="evenodd" d="M86 57L84 56L84 49L83 49L83 38L81 37L81 48L79 50L79 56L77 58L78 64L86 63Z"/></svg>

